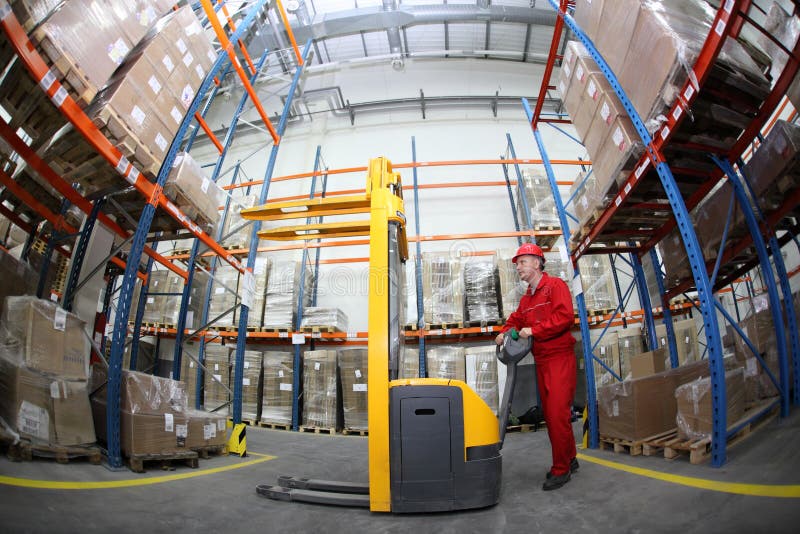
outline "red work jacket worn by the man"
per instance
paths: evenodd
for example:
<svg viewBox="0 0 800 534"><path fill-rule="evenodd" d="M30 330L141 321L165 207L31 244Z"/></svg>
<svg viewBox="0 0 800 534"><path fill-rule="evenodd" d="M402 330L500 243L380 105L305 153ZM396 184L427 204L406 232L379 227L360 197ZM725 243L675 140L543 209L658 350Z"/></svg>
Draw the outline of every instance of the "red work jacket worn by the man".
<svg viewBox="0 0 800 534"><path fill-rule="evenodd" d="M531 292L522 296L517 311L503 326L503 332L530 328L533 332L533 356L540 360L559 353L574 351L575 338L570 329L575 322L572 296L560 278L542 273L542 279Z"/></svg>

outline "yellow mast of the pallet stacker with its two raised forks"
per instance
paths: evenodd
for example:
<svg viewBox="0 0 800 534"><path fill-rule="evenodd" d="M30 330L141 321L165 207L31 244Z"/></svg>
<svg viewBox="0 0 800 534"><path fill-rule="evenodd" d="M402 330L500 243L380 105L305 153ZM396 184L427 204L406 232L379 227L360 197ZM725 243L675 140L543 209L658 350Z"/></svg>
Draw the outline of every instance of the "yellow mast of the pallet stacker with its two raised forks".
<svg viewBox="0 0 800 534"><path fill-rule="evenodd" d="M262 221L369 213L369 220L315 223L261 230L261 239L312 240L368 236L369 341L368 424L370 510L391 511L389 470L389 368L397 369L400 350L398 276L408 258L400 174L383 157L370 160L365 195L281 202L242 210Z"/></svg>

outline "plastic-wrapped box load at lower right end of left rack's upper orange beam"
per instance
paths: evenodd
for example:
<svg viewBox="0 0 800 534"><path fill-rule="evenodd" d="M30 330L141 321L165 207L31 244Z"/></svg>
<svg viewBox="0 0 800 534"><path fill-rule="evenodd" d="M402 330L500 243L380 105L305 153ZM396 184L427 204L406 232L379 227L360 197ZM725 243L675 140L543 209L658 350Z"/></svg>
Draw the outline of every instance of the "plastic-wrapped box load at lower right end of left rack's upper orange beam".
<svg viewBox="0 0 800 534"><path fill-rule="evenodd" d="M205 225L213 233L219 222L219 206L225 192L208 179L200 165L185 152L175 157L164 185L164 194L192 220Z"/></svg>

